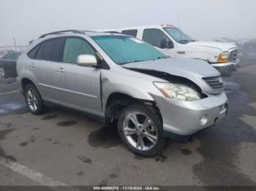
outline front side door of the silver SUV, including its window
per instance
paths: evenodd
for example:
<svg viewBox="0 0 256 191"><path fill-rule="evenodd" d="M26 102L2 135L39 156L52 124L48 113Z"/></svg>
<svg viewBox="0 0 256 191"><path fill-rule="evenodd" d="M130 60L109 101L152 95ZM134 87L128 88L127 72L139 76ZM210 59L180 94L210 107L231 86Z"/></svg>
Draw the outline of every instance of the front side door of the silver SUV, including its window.
<svg viewBox="0 0 256 191"><path fill-rule="evenodd" d="M64 70L65 90L61 94L67 106L102 115L100 98L101 69L78 66L78 55L94 55L91 44L80 37L67 37L64 44L61 68Z"/></svg>

